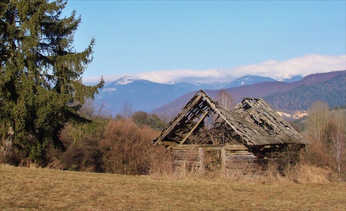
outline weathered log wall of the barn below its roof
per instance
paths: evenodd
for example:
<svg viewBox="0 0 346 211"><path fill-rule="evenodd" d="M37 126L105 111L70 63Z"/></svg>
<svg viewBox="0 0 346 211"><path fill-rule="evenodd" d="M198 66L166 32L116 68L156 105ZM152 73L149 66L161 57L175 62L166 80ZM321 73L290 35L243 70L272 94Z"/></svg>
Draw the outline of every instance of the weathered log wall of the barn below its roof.
<svg viewBox="0 0 346 211"><path fill-rule="evenodd" d="M299 161L300 147L290 151L284 145L259 149L244 145L176 145L170 149L174 154L174 167L204 172L208 169L247 169L269 162L275 162L280 169Z"/></svg>

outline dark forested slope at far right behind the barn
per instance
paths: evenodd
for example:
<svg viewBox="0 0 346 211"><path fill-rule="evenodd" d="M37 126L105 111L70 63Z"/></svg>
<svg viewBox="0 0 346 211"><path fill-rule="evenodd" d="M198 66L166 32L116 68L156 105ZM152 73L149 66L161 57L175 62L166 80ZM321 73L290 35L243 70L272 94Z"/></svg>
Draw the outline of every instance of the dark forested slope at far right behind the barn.
<svg viewBox="0 0 346 211"><path fill-rule="evenodd" d="M284 92L273 93L263 99L277 111L307 111L316 101L327 102L328 106L346 104L346 71L318 84L302 85Z"/></svg>

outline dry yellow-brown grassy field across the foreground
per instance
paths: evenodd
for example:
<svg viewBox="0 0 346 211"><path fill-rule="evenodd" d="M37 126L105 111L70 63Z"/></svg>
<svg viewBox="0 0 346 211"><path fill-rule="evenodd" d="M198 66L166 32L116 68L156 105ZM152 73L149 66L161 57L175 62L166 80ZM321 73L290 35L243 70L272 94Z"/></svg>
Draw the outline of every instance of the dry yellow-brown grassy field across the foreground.
<svg viewBox="0 0 346 211"><path fill-rule="evenodd" d="M345 210L345 183L226 182L0 165L0 210Z"/></svg>

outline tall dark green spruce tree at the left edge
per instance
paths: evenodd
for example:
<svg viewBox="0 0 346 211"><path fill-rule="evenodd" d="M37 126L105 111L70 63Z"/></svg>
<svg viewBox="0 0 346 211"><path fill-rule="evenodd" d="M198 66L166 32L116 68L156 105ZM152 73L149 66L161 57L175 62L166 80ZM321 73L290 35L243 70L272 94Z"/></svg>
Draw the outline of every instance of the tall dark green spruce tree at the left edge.
<svg viewBox="0 0 346 211"><path fill-rule="evenodd" d="M2 0L0 3L0 138L4 152L44 160L59 146L66 122L104 84L82 84L94 39L76 52L81 17L62 17L67 1Z"/></svg>

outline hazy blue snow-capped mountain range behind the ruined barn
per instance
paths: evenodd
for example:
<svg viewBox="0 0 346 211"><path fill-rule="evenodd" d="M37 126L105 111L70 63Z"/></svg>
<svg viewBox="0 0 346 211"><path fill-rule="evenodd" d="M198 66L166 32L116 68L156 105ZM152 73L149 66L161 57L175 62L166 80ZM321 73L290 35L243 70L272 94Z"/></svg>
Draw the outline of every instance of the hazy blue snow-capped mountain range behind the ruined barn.
<svg viewBox="0 0 346 211"><path fill-rule="evenodd" d="M109 113L115 116L122 113L125 105L133 111L146 111L158 113L158 115L170 118L178 113L188 100L199 89L205 90L212 98L216 99L220 89L226 90L239 102L242 97L264 98L274 109L291 112L294 107L277 103L273 99L286 96L283 92L298 89L300 86L312 86L321 82L327 82L331 78L339 77L338 82L340 103L345 104L345 75L346 71L334 71L329 73L316 73L312 75L291 75L290 77L262 77L260 75L244 75L230 83L215 82L212 84L187 82L174 82L161 84L137 77L121 77L120 79L104 86L98 95L95 95L95 104L104 104ZM280 81L279 81L280 80ZM335 82L334 82L335 84ZM344 84L344 85L343 85ZM331 90L335 90L333 83L329 84ZM319 86L317 86L319 87ZM322 89L322 85L320 88ZM300 93L304 92L300 91ZM275 95L277 93L277 95ZM299 91L298 91L299 93ZM331 93L329 93L330 95ZM266 97L267 96L267 97ZM298 98L295 96L294 98ZM312 99L312 98L311 98ZM287 100L286 100L287 101ZM284 102L284 101L282 101ZM338 104L338 103L336 103ZM337 106L337 105L336 105ZM288 108L286 108L288 107ZM306 106L300 107L306 109Z"/></svg>

